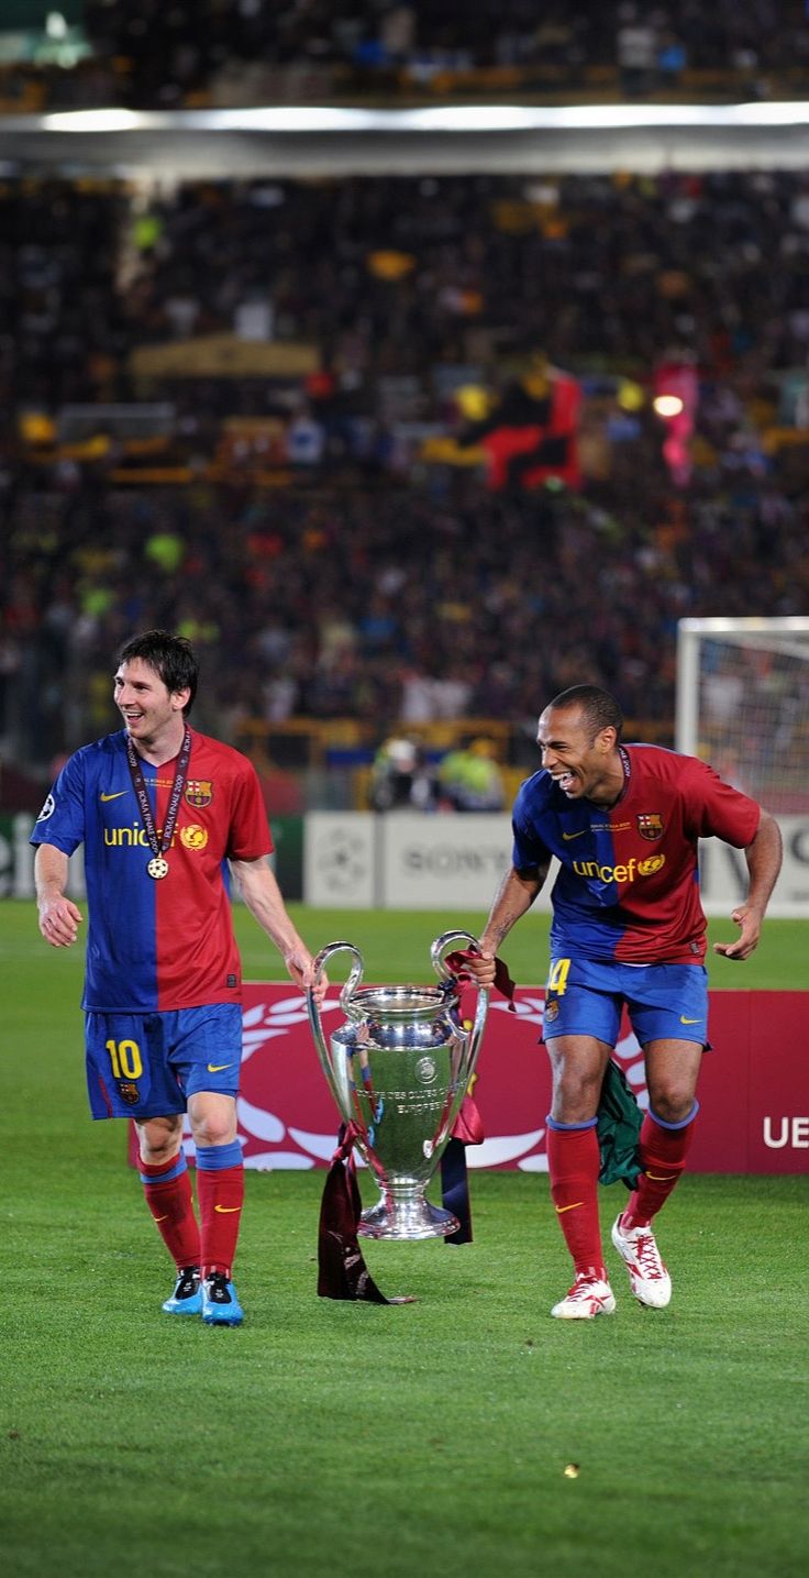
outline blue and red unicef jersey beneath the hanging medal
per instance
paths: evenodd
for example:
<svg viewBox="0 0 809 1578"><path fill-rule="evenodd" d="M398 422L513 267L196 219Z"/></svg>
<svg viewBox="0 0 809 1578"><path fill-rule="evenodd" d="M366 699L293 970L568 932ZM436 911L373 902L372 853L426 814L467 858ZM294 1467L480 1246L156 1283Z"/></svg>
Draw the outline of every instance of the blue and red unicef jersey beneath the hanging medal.
<svg viewBox="0 0 809 1578"><path fill-rule="evenodd" d="M158 833L175 761L142 762ZM71 855L84 844L87 964L82 1007L142 1013L238 1002L241 963L233 936L226 860L257 860L273 839L252 762L191 731L191 759L169 874L151 860L126 761L126 732L69 757L32 833Z"/></svg>

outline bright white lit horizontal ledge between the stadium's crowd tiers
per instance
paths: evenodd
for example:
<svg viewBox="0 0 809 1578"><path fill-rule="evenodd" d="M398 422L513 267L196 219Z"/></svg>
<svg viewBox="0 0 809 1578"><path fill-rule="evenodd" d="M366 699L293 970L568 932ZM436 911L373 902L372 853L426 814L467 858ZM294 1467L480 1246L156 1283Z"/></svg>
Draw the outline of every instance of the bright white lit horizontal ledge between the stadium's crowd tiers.
<svg viewBox="0 0 809 1578"><path fill-rule="evenodd" d="M809 103L68 110L0 118L0 172L454 175L809 167Z"/></svg>

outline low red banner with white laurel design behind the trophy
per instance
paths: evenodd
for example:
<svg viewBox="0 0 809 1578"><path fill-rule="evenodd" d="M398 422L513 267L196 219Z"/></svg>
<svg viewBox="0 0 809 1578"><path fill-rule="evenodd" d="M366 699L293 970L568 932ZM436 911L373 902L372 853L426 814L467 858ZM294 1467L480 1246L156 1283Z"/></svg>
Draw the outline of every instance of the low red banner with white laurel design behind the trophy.
<svg viewBox="0 0 809 1578"><path fill-rule="evenodd" d="M486 1139L467 1150L473 1168L547 1171L550 1078L538 1046L542 1005L542 991L531 988L517 988L516 1013L505 999L492 999L475 1081ZM326 1035L344 1023L337 991L330 993L322 1016ZM711 993L713 1051L702 1064L689 1171L809 1171L807 1019L809 993ZM643 1057L629 1032L617 1060L645 1106ZM323 1166L337 1127L301 994L289 983L246 983L238 1097L246 1166ZM192 1149L186 1139L191 1155Z"/></svg>

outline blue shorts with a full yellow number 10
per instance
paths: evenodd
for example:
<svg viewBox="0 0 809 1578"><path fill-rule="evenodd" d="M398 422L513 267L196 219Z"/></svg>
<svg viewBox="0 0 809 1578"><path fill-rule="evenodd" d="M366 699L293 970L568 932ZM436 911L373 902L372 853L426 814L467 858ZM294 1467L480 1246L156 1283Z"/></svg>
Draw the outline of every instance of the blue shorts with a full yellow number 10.
<svg viewBox="0 0 809 1578"><path fill-rule="evenodd" d="M85 1013L93 1117L169 1117L197 1090L237 1095L241 1008L218 1002L169 1013Z"/></svg>

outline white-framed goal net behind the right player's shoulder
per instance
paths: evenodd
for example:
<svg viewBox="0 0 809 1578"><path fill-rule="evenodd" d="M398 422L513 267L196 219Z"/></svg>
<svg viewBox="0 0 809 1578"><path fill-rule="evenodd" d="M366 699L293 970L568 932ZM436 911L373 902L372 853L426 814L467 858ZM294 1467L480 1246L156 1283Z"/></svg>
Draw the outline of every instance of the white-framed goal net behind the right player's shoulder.
<svg viewBox="0 0 809 1578"><path fill-rule="evenodd" d="M776 816L809 813L809 617L683 619L677 750Z"/></svg>

